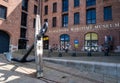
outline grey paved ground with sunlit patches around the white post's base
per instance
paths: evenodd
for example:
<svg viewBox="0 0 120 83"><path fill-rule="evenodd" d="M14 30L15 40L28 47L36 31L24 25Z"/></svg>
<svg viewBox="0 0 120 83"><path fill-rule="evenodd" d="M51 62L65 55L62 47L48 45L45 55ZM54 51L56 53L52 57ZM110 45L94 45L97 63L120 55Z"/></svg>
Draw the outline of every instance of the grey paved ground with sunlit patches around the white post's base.
<svg viewBox="0 0 120 83"><path fill-rule="evenodd" d="M0 83L102 83L101 75L48 62L44 62L44 78L37 79L35 68L34 62L9 63L0 55ZM94 79L89 78L92 76Z"/></svg>

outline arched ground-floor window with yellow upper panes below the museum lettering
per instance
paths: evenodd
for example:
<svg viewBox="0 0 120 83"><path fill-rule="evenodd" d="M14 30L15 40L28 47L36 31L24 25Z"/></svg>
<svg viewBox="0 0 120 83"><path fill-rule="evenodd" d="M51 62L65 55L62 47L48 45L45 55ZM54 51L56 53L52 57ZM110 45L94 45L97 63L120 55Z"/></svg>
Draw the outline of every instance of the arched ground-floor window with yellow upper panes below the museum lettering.
<svg viewBox="0 0 120 83"><path fill-rule="evenodd" d="M94 32L85 35L85 51L98 51L98 35Z"/></svg>

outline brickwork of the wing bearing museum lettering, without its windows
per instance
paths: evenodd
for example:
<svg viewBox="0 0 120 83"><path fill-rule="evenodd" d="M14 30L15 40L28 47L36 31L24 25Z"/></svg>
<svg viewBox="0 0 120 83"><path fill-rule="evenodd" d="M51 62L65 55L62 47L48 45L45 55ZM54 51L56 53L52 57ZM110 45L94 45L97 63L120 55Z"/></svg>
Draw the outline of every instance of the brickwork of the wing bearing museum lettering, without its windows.
<svg viewBox="0 0 120 83"><path fill-rule="evenodd" d="M57 2L57 13L52 13L52 5L54 2ZM98 45L104 43L104 36L111 35L114 38L114 47L120 45L119 39L119 27L112 27L112 29L86 29L86 30L79 30L79 31L71 31L71 28L81 28L86 25L86 10L90 8L96 8L96 24L95 25L103 25L103 24L114 24L120 23L120 1L119 0L96 0L96 5L92 7L86 7L86 0L80 0L80 6L74 8L73 0L69 0L69 23L68 28L69 31L59 31L63 30L62 26L62 0L48 0L47 2L43 2L42 4L42 22L44 19L48 19L49 30L47 35L49 36L49 44L60 44L60 35L61 34L68 34L70 36L70 44L72 48L74 47L74 39L78 39L80 44L78 50L81 50L84 46L84 36L88 32L95 32L98 34ZM44 15L44 6L48 5L48 15ZM104 21L104 7L112 6L112 20ZM74 13L80 12L80 24L74 25ZM57 17L57 27L52 27L52 17Z"/></svg>

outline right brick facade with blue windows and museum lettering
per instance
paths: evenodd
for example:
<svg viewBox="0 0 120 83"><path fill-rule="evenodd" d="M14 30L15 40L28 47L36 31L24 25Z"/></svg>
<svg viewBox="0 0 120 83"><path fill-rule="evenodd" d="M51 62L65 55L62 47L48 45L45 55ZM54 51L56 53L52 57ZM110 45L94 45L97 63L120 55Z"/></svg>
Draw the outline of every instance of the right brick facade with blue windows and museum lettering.
<svg viewBox="0 0 120 83"><path fill-rule="evenodd" d="M120 0L43 0L44 48L101 51L106 42L120 51Z"/></svg>

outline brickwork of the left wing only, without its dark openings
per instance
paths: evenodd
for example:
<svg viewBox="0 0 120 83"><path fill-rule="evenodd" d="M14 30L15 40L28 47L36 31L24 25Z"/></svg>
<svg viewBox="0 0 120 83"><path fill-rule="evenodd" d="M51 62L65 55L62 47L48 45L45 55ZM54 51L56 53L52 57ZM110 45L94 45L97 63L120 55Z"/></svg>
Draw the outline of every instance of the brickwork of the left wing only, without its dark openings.
<svg viewBox="0 0 120 83"><path fill-rule="evenodd" d="M20 39L22 0L0 0L0 5L7 7L6 19L0 18L0 30L5 31L10 36L10 46L14 50L17 50L18 40ZM37 1L28 0L26 37L29 41L27 42L27 46L31 46L34 41L34 5L38 5Z"/></svg>

